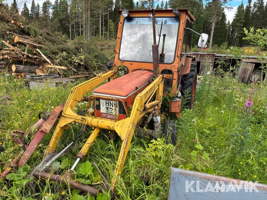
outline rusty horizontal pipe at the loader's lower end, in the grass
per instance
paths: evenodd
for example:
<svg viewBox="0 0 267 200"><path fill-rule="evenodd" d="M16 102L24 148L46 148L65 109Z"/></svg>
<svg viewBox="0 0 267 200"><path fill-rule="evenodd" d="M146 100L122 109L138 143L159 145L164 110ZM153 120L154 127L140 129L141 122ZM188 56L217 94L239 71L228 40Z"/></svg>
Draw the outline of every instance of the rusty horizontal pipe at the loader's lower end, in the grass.
<svg viewBox="0 0 267 200"><path fill-rule="evenodd" d="M62 183L64 185L70 185L80 191L83 191L83 192L89 192L90 195L93 195L93 196L97 196L98 193L101 193L102 191L101 190L98 190L97 188L94 188L94 187L91 187L90 185L85 185L85 184L82 184L72 178L70 178L69 176L67 176L66 174L65 175L57 175L57 174L49 174L47 172L44 172L44 171L34 171L33 172L33 175L35 177L40 177L40 178L43 178L43 179L46 179L46 180L53 180L55 182L58 182L58 183Z"/></svg>

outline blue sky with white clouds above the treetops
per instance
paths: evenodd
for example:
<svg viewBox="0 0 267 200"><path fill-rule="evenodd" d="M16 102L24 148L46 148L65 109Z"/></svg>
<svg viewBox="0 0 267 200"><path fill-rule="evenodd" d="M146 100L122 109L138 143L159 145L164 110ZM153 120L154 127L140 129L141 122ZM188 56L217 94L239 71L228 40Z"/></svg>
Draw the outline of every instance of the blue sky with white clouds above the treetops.
<svg viewBox="0 0 267 200"><path fill-rule="evenodd" d="M11 5L11 2L13 0L6 0L7 3L9 3L9 5ZM24 1L27 2L27 5L28 5L28 9L31 8L31 0L17 0L18 1L18 7L19 8L22 8L23 7L23 4L24 4ZM42 7L42 4L44 2L44 0L34 0L35 1L35 4L39 3L39 5ZM52 2L52 4L54 3L54 0L50 0ZM137 0L134 0L134 2L136 2ZM164 0L165 2L166 0ZM230 22L233 21L233 17L235 16L235 13L236 13L236 9L237 7L241 4L241 1L242 0L231 0L227 5L230 5L233 7L233 9L230 9L230 10L227 10L225 9L225 14L226 14L226 18L227 18L227 21L230 20ZM255 2L256 0L252 0L252 4ZM267 0L264 0L264 2L266 3ZM159 2L161 2L161 0L159 0ZM246 6L247 4L247 0L243 0L244 2L244 6ZM157 5L157 3L156 3Z"/></svg>

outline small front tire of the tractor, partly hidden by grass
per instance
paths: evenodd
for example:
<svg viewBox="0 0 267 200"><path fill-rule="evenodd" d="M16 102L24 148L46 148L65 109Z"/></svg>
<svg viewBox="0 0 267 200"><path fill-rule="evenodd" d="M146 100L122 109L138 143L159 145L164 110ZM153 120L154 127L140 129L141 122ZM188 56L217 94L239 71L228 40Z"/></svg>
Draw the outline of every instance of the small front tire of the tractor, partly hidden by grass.
<svg viewBox="0 0 267 200"><path fill-rule="evenodd" d="M163 126L163 133L165 135L165 143L176 145L177 125L176 121L166 120Z"/></svg>

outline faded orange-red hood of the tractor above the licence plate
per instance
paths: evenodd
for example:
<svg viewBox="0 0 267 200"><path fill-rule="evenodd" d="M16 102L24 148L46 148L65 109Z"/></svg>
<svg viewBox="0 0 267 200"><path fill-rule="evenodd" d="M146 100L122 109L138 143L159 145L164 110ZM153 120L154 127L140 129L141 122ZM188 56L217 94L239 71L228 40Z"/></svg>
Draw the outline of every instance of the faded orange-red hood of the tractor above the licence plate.
<svg viewBox="0 0 267 200"><path fill-rule="evenodd" d="M154 74L147 70L137 70L107 82L96 88L93 95L128 97L150 83Z"/></svg>

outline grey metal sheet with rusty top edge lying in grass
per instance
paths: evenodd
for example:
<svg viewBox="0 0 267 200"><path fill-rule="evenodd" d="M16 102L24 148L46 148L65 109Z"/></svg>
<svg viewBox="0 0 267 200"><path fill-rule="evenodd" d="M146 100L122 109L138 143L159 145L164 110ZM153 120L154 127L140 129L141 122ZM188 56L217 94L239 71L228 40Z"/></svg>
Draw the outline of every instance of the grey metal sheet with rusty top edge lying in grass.
<svg viewBox="0 0 267 200"><path fill-rule="evenodd" d="M267 185L171 167L168 199L267 199Z"/></svg>

